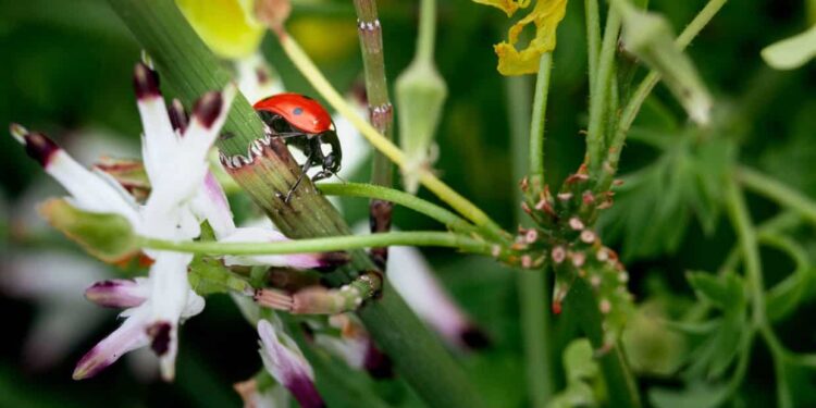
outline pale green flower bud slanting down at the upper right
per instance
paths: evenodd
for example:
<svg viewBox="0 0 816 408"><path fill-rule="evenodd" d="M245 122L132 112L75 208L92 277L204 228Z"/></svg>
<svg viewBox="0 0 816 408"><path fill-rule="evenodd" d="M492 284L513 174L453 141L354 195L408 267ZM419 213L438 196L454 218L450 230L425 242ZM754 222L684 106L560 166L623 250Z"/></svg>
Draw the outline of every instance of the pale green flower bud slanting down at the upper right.
<svg viewBox="0 0 816 408"><path fill-rule="evenodd" d="M662 15L641 11L626 0L613 5L623 21L626 49L663 76L692 121L705 125L710 120L712 97L689 55L675 42L668 21Z"/></svg>

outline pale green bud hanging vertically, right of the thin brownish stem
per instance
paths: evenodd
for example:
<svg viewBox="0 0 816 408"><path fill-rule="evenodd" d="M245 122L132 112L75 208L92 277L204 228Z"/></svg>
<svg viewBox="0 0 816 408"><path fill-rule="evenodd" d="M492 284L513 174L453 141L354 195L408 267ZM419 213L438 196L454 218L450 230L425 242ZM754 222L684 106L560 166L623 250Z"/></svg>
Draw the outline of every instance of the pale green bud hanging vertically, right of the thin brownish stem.
<svg viewBox="0 0 816 408"><path fill-rule="evenodd" d="M430 168L436 160L433 135L447 97L447 85L433 62L417 59L397 78L396 97L399 141L407 157L403 168L405 188L416 193L419 188L418 172Z"/></svg>

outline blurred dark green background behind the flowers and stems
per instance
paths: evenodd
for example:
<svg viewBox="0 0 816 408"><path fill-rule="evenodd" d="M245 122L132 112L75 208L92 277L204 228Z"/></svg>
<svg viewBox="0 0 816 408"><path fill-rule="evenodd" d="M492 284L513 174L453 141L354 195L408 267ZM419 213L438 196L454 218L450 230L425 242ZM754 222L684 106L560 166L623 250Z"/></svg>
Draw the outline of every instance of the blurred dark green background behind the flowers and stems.
<svg viewBox="0 0 816 408"><path fill-rule="evenodd" d="M336 87L354 86L360 79L361 61L351 2L293 0L293 3L288 24L293 35ZM393 83L413 53L418 4L405 0L379 3L387 75ZM651 8L665 13L679 30L704 3L703 0L653 0ZM816 22L813 15L813 8L802 0L734 0L689 52L717 100L740 109L728 131L739 137L743 147L741 160L816 197L813 164L816 149L812 143L816 132L814 64L782 73L768 69L759 58L764 46ZM524 107L508 98L508 81L497 74L492 50L492 45L504 38L507 24L504 14L495 9L467 0L440 1L436 62L449 96L437 134L441 151L437 169L453 187L502 225L512 228L517 182L511 176L508 112ZM288 89L314 95L283 58L273 38L264 40L263 52L275 64ZM140 128L131 73L139 59L139 47L106 1L0 0L0 55L2 126L15 121L44 131L86 163L102 152L138 153ZM557 182L577 168L583 154L580 131L585 127L588 85L580 1L569 3L558 29L554 61L546 165L552 181ZM644 110L643 123L659 123L660 115L683 121L681 109L664 88L658 86L655 95L655 102ZM623 173L635 171L656 157L654 149L633 141L623 154ZM361 171L353 178L368 180L367 173ZM87 304L82 289L99 276L123 272L85 257L76 246L37 220L34 212L37 200L60 190L8 136L0 137L0 207L4 215L0 224L1 407L240 404L231 384L255 373L260 361L252 329L224 296L208 298L205 312L184 326L174 384L152 379L149 357L123 359L92 380L72 381L77 359L118 324L113 311L100 311ZM247 202L244 206L249 207ZM758 220L776 211L770 202L753 196L751 206ZM345 200L344 208L350 223L367 217L364 201ZM621 210L628 211L629 217L654 220L659 205L632 206ZM650 246L648 242L631 240L627 245L645 248L622 248L632 275L630 288L640 300L658 297L675 306L693 301L684 271L716 270L732 245L733 236L724 218L716 219L706 234L695 220L693 208L683 205L677 211L680 212L671 214L678 217L657 219L667 222L660 224L665 233L679 231L676 245ZM615 223L616 220L607 220L604 225L614 230ZM403 209L396 210L395 224L404 230L437 227ZM620 239L610 244L621 249ZM803 238L803 245L811 255L816 254L813 242ZM493 406L524 406L514 274L492 260L448 250L423 252L453 295L493 341L491 348L478 354L460 353L462 364ZM26 265L28 277L12 273L21 264ZM766 257L766 279L771 283L778 282L790 268L790 261L781 255ZM816 330L809 318L813 312L816 304L806 301L778 327L789 347L816 349ZM655 335L651 342L669 342L659 333L648 332L660 332L659 327L643 330ZM32 339L32 333L37 331L41 336ZM565 338L554 341L564 343ZM65 346L59 349L62 344ZM680 354L681 344L673 349L658 347L647 358L659 364L679 358L676 355ZM772 406L771 372L767 354L757 350L740 391L745 406ZM663 374L645 373L642 379L644 390L679 384ZM812 384L813 378L805 373L802 380L803 384L808 381ZM814 390L803 386L801 393L813 394ZM416 405L416 398L398 381L380 382L376 392L396 405Z"/></svg>

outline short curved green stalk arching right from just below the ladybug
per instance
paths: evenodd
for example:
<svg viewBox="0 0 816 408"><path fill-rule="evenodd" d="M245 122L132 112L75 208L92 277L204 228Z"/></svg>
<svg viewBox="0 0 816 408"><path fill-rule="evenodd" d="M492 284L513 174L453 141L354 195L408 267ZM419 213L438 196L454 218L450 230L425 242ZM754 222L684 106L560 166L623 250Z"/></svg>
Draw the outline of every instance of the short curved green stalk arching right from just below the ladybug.
<svg viewBox="0 0 816 408"><path fill-rule="evenodd" d="M444 224L450 231L462 234L474 234L477 227L461 217L425 201L412 194L393 188L360 183L321 183L317 185L321 193L330 196L366 197L390 201L409 208Z"/></svg>

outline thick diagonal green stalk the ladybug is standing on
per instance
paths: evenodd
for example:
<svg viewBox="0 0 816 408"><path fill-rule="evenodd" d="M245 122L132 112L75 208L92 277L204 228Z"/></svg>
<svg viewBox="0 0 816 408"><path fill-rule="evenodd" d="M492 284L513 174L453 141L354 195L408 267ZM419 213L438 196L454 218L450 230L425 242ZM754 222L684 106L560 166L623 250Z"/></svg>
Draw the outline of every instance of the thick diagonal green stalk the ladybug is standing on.
<svg viewBox="0 0 816 408"><path fill-rule="evenodd" d="M163 79L187 102L231 78L220 61L201 42L172 0L109 0L113 10L156 62ZM246 153L248 145L263 136L263 126L245 98L238 96L218 147L225 154ZM317 194L308 180L285 203L274 195L286 191L299 169L283 144L267 149L262 177L236 177L284 234L293 238L347 235L343 218ZM362 251L351 254L344 271L374 269ZM461 369L385 282L384 296L358 311L376 343L394 359L397 369L419 396L431 406L480 407L482 403Z"/></svg>

